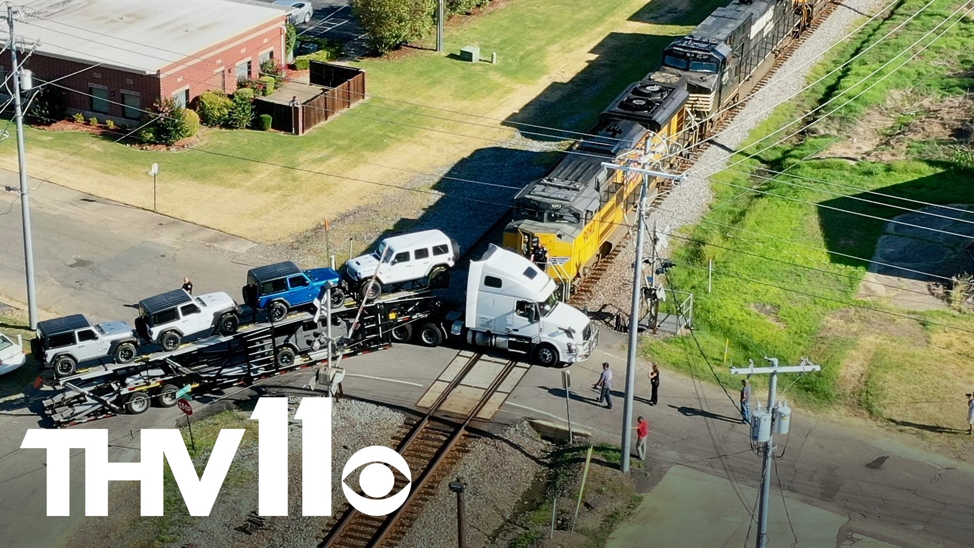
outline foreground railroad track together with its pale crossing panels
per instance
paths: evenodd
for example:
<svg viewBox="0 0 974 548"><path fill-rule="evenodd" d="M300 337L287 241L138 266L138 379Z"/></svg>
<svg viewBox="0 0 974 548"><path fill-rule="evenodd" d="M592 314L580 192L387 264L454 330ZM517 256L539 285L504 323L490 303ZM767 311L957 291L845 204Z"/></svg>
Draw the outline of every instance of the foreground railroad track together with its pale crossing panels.
<svg viewBox="0 0 974 548"><path fill-rule="evenodd" d="M405 503L392 514L378 517L349 506L318 548L396 546L419 519L453 464L468 452L468 440L473 437L468 430L470 422L485 414L493 415L499 399L506 399L512 385L527 369L512 360L460 351L420 401L420 406L429 407L430 411L403 425L394 438L398 442L396 451L409 464L415 478ZM491 373L485 377L485 372ZM471 398L474 393L476 396ZM409 481L397 474L392 492L405 488Z"/></svg>

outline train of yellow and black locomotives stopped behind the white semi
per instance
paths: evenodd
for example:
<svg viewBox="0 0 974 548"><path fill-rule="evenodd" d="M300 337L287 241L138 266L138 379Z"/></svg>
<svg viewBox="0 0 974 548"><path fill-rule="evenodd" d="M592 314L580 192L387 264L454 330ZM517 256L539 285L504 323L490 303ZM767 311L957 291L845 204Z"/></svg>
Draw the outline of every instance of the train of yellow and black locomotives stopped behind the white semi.
<svg viewBox="0 0 974 548"><path fill-rule="evenodd" d="M667 169L705 138L771 69L828 0L734 0L674 40L662 64L631 84L599 122L514 200L504 246L571 287L635 222L642 176L604 164ZM650 196L656 180L650 180Z"/></svg>

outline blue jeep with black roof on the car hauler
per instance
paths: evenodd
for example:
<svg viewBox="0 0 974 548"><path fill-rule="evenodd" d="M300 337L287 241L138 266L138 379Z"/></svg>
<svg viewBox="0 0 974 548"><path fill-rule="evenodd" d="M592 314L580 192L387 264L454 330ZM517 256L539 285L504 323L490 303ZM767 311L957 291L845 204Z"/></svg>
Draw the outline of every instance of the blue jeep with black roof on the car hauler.
<svg viewBox="0 0 974 548"><path fill-rule="evenodd" d="M280 322L294 308L312 304L331 290L331 305L345 302L342 276L331 268L301 270L291 261L251 268L246 273L244 302L253 310L267 310L272 322Z"/></svg>

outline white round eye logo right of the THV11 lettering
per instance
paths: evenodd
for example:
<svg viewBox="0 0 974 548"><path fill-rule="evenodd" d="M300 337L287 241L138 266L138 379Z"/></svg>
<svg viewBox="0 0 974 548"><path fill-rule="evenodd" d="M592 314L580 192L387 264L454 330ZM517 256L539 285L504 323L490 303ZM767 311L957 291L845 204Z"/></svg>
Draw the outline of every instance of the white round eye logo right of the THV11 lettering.
<svg viewBox="0 0 974 548"><path fill-rule="evenodd" d="M363 464L366 466L358 473L358 487L368 497L358 494L345 483L345 479ZM382 446L357 450L345 463L345 468L342 469L342 490L345 491L345 498L348 499L349 504L368 516L392 514L399 506L402 506L406 497L409 496L409 489L413 485L412 481L406 483L405 487L393 496L381 498L388 495L395 486L395 476L390 466L398 470L407 479L412 480L409 465L394 450Z"/></svg>

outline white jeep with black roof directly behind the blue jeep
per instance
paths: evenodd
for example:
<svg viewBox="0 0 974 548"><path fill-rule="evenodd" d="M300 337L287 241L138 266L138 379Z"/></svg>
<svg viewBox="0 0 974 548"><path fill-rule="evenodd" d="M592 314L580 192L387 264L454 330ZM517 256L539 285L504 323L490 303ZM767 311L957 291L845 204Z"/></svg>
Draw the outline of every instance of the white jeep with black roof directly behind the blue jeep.
<svg viewBox="0 0 974 548"><path fill-rule="evenodd" d="M193 296L185 290L175 290L138 301L135 331L169 352L194 333L237 333L242 311L229 294Z"/></svg>

